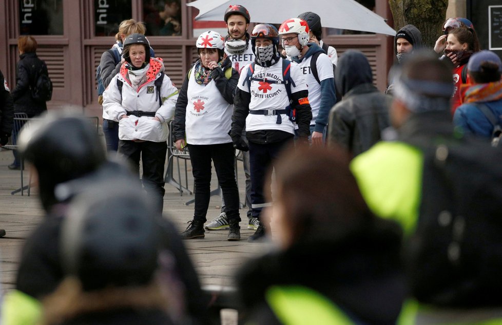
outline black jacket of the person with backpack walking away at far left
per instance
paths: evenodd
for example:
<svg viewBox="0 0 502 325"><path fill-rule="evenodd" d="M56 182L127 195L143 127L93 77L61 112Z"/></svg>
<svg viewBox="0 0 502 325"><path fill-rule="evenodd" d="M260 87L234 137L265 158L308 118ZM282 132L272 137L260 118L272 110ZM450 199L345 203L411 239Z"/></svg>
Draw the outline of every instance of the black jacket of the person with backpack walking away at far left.
<svg viewBox="0 0 502 325"><path fill-rule="evenodd" d="M20 58L16 69L16 86L11 93L14 111L26 113L31 118L47 110L45 102L37 102L31 97L31 88L35 84L36 75L40 71L48 74L47 65L38 59L35 52L21 54Z"/></svg>

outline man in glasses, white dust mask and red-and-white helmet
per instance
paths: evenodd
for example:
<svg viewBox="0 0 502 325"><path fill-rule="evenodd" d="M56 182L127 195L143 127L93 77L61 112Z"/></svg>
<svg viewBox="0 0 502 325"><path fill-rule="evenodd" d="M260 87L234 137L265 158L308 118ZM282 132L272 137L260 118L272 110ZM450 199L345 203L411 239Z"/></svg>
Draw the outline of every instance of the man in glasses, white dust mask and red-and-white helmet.
<svg viewBox="0 0 502 325"><path fill-rule="evenodd" d="M300 65L308 86L308 101L312 107L312 144L322 145L327 116L336 103L333 65L324 50L311 42L308 24L303 19L286 20L279 28L279 35L288 60Z"/></svg>

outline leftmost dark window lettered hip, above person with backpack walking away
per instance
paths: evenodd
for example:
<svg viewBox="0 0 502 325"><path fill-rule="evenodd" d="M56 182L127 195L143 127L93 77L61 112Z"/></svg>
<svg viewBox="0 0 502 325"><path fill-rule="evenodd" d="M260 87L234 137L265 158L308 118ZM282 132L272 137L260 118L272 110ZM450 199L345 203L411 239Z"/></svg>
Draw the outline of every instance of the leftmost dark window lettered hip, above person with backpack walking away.
<svg viewBox="0 0 502 325"><path fill-rule="evenodd" d="M63 35L63 0L19 2L21 35Z"/></svg>

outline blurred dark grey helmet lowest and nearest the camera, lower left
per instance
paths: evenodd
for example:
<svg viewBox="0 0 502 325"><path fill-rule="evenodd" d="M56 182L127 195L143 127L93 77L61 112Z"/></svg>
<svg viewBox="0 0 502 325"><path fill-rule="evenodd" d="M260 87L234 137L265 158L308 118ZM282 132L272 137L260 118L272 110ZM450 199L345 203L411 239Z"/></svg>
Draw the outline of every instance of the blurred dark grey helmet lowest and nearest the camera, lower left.
<svg viewBox="0 0 502 325"><path fill-rule="evenodd" d="M61 228L65 272L85 291L149 283L160 246L154 206L140 186L119 178L76 196Z"/></svg>

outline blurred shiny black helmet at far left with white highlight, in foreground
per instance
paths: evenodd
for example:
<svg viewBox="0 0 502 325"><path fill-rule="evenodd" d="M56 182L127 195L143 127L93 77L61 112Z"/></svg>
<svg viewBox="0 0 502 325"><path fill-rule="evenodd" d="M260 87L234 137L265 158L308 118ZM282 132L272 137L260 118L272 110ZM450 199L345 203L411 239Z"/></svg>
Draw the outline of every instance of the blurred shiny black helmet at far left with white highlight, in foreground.
<svg viewBox="0 0 502 325"><path fill-rule="evenodd" d="M17 144L38 174L44 208L57 203L57 184L80 178L106 161L105 146L90 120L80 115L47 113L23 128Z"/></svg>

